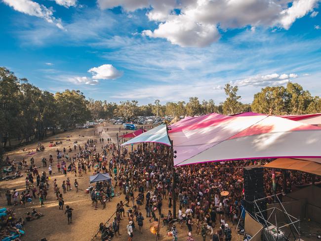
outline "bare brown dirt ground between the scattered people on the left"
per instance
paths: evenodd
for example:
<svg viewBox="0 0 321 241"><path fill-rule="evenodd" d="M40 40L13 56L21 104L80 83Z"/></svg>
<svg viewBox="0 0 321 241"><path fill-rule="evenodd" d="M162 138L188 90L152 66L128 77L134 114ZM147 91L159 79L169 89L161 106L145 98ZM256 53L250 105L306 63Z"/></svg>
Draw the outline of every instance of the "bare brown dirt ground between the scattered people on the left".
<svg viewBox="0 0 321 241"><path fill-rule="evenodd" d="M105 130L109 128L108 132L105 132ZM101 136L98 135L98 131L101 131L103 129L103 134ZM94 136L94 131L96 132L96 135ZM75 140L78 141L78 144L81 146L84 145L84 143L87 141L87 139L98 139L97 144L97 150L101 149L101 145L99 144L99 138L103 137L105 140L107 138L112 138L113 142L116 142L116 133L119 131L119 126L115 126L112 124L106 124L104 125L97 125L95 128L89 128L89 129L77 129L74 131L64 132L57 134L55 136L51 136L47 138L46 140L42 141L41 143L46 148L44 152L34 154L32 157L35 159L35 164L37 166L42 166L41 159L43 157L49 159L49 154L53 155L54 162L52 166L52 175L51 175L51 181L56 178L57 184L59 187L61 187L62 181L66 180L67 178L62 175L61 173L57 172L57 161L56 161L56 153L55 150L57 147L49 148L49 142L50 140L56 140L56 139L62 139L63 144L59 145L59 150L62 150L63 147L66 149L71 146L73 147L73 142ZM121 131L119 134L121 135L123 131ZM84 135L84 137L79 137L79 135ZM71 136L71 141L66 141L67 136ZM106 143L106 142L105 142ZM30 144L26 146L28 150L36 150L37 143ZM77 149L78 150L78 149ZM27 156L28 152L22 152L20 149L14 150L12 152L5 153L5 156L9 156L10 160L16 159L17 161L21 161L22 158L25 158L25 160L28 161L28 164L30 165L30 158L31 156ZM72 155L75 154L73 151L71 153ZM23 170L25 172L25 170ZM40 167L39 173L42 171L46 171L48 173L47 167ZM91 172L92 173L92 172ZM79 182L79 188L82 190L85 190L88 187L89 184L89 176L91 174L90 172L87 172L87 174L83 174L83 177L75 177L74 175L68 173L67 176L71 179L71 184L73 187L73 183L75 178L77 178ZM24 173L24 177L17 178L15 180L9 180L9 181L1 181L0 187L7 187L10 189L16 188L19 191L19 194L25 189L25 176L26 173ZM119 191L119 188L117 187L115 190L115 193ZM121 192L120 192L121 193ZM55 194L53 193L53 187L52 185L49 187L47 201L45 201L44 205L40 207L38 199L33 200L31 203L26 203L25 208L18 206L10 206L9 208L12 208L14 212L16 213L16 217L25 217L26 213L28 211L31 211L32 208L36 208L39 212L42 212L44 214L44 217L41 217L40 219L27 222L24 226L24 230L26 231L26 234L22 237L23 241L39 241L42 238L46 238L48 241L90 241L92 240L93 236L97 233L99 223L103 222L105 223L111 215L116 210L116 204L120 202L120 200L124 200L124 195L120 195L120 197L115 197L112 199L111 202L107 202L106 209L102 209L102 206L98 204L98 209L94 210L94 208L91 206L91 201L88 199L88 194L86 194L84 191L79 191L79 193L76 193L76 190L73 188L71 191L68 191L66 194L63 194L65 205L70 205L74 211L73 211L73 224L68 225L67 222L67 215L65 215L65 211L58 209L58 201L56 201ZM0 198L0 207L7 207L6 201L4 195ZM143 206L142 206L143 207ZM127 209L125 208L125 211ZM163 213L167 213L168 206L167 202L164 201L163 204ZM178 210L178 209L177 209ZM141 209L144 217L146 217L146 211L144 208ZM114 218L114 217L113 217ZM111 222L113 221L113 218L111 219ZM128 236L126 233L126 225L127 225L127 219L121 221L120 223L120 234L122 236L113 238L115 241L127 241ZM232 224L230 224L232 226ZM162 225L161 225L162 227ZM144 220L144 226L143 226L143 234L140 234L138 231L134 231L134 238L133 241L152 241L156 240L156 235L153 235L150 230L150 223L147 218ZM182 226L182 229L178 227L178 235L179 241L185 241L187 238L187 227L186 225ZM193 237L195 241L201 241L201 236L195 235L195 227L193 227ZM235 233L235 229L232 226L232 240L242 240L242 236L239 236ZM160 230L160 240L164 241L170 241L172 238L166 237L167 231L166 228L163 227ZM93 239L94 241L99 241L100 235ZM206 241L209 241L209 236L206 237Z"/></svg>

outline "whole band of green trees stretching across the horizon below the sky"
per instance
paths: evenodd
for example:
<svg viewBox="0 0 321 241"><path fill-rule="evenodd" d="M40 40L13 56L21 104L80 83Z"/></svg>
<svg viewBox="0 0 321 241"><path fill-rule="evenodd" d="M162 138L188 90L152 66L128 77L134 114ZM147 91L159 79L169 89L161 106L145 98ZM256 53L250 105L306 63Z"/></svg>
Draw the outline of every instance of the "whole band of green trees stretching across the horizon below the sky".
<svg viewBox="0 0 321 241"><path fill-rule="evenodd" d="M233 115L253 111L273 115L299 115L321 112L321 99L303 90L297 83L286 87L265 87L254 95L251 104L241 103L238 86L225 85L226 100L190 97L189 102L167 102L138 105L136 100L117 103L86 99L79 90L65 90L52 94L40 90L26 79L18 79L6 68L0 68L0 148L10 145L10 139L30 142L32 137L42 140L48 129L73 128L87 120L137 116L198 116L212 112Z"/></svg>

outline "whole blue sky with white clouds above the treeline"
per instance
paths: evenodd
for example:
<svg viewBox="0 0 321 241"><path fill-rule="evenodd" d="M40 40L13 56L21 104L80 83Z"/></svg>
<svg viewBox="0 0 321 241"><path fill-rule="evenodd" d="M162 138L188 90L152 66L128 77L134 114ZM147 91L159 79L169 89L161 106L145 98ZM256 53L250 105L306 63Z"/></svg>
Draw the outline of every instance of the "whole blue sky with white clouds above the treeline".
<svg viewBox="0 0 321 241"><path fill-rule="evenodd" d="M272 2L272 3L271 3ZM242 102L267 85L321 96L318 0L0 0L0 66L53 93Z"/></svg>

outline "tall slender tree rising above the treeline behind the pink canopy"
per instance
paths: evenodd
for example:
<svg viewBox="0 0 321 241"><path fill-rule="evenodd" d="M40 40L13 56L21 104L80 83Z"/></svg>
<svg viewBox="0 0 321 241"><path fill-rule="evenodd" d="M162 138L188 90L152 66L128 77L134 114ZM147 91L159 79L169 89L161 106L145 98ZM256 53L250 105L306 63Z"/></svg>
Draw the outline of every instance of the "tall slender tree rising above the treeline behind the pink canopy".
<svg viewBox="0 0 321 241"><path fill-rule="evenodd" d="M234 115L240 113L241 111L241 96L238 95L238 86L232 86L227 83L224 87L225 94L227 96L223 103L223 114L224 115Z"/></svg>

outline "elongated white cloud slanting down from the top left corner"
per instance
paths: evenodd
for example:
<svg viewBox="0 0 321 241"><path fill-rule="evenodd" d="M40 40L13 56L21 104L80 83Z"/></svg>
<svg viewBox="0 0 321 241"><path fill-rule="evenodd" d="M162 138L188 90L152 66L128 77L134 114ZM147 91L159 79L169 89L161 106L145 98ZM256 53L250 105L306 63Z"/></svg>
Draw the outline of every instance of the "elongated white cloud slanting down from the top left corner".
<svg viewBox="0 0 321 241"><path fill-rule="evenodd" d="M32 0L2 0L14 10L45 19L48 23L54 23L58 28L64 29L60 19L53 16L53 10Z"/></svg>

